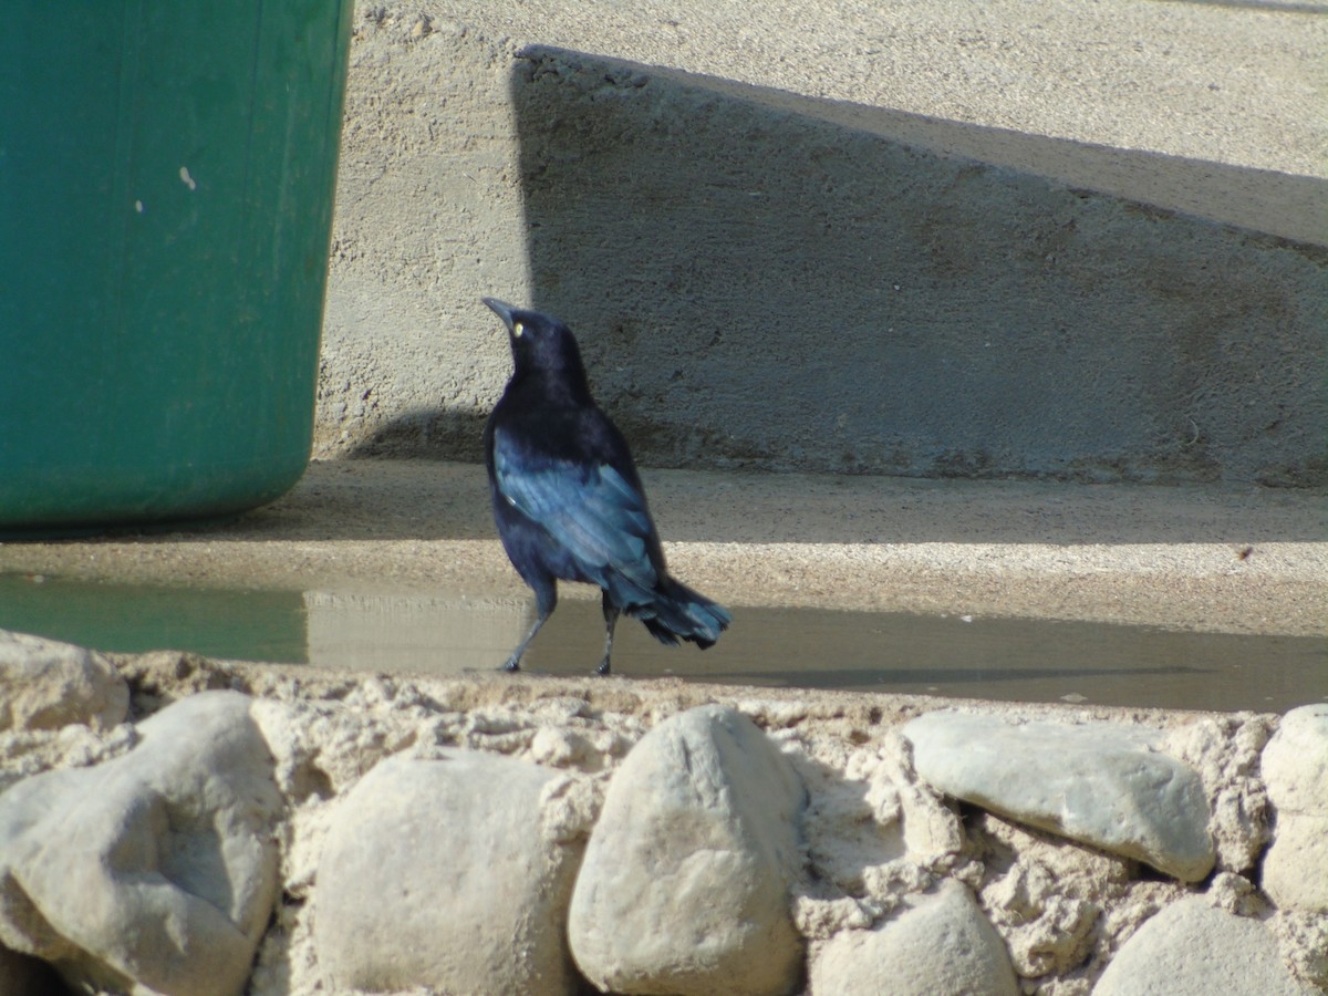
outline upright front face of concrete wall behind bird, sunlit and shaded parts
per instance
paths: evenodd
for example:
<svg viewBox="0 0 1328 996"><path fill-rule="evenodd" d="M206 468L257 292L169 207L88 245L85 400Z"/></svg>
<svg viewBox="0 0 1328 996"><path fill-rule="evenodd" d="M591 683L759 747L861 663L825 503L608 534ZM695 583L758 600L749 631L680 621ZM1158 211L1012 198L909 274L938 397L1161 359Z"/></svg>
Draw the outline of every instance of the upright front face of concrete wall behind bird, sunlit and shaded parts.
<svg viewBox="0 0 1328 996"><path fill-rule="evenodd" d="M491 293L572 325L647 465L1328 483L1328 250L1120 197L1212 169L377 11L317 453L477 459Z"/></svg>

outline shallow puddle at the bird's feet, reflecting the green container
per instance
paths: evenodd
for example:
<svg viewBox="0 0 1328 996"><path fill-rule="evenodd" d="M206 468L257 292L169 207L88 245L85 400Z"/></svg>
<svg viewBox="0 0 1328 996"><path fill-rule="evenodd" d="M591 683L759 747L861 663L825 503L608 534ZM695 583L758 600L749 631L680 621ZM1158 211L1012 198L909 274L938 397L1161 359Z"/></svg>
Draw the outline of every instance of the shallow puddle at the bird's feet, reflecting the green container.
<svg viewBox="0 0 1328 996"><path fill-rule="evenodd" d="M0 575L0 628L109 651L360 671L458 675L497 667L531 619L523 600L442 594L235 591ZM618 628L628 677L839 688L1169 709L1280 712L1328 700L1328 639L1187 633L1104 623L736 607L712 649ZM599 600L559 604L531 672L587 675Z"/></svg>

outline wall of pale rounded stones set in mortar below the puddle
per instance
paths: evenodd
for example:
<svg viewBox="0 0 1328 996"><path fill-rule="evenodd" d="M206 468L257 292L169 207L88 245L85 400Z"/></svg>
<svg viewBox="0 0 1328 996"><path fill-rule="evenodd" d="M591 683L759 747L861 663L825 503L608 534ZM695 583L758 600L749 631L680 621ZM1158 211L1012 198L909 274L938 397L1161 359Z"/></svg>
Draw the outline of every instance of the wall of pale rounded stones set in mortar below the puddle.
<svg viewBox="0 0 1328 996"><path fill-rule="evenodd" d="M3 632L0 701L3 996L1328 984L1324 705L382 679Z"/></svg>

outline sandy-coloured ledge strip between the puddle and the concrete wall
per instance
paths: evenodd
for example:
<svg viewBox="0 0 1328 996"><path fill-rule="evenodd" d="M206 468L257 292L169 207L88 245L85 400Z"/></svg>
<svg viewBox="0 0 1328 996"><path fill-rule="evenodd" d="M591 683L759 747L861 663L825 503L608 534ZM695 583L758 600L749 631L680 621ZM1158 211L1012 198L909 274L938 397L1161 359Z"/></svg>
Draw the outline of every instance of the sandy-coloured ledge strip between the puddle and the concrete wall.
<svg viewBox="0 0 1328 996"><path fill-rule="evenodd" d="M726 604L1328 635L1328 503L1227 486L647 471L673 572ZM0 543L0 571L203 587L522 596L483 469L311 465L202 529ZM564 598L591 598L563 586Z"/></svg>

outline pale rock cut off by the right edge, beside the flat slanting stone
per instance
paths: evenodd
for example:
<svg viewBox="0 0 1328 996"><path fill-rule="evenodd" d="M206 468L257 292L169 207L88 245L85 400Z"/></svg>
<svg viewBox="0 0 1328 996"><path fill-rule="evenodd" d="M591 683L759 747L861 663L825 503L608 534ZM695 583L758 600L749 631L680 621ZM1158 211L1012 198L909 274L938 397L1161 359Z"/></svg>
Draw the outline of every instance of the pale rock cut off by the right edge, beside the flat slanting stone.
<svg viewBox="0 0 1328 996"><path fill-rule="evenodd" d="M1263 888L1283 908L1328 912L1328 704L1288 712L1260 766L1276 810Z"/></svg>

